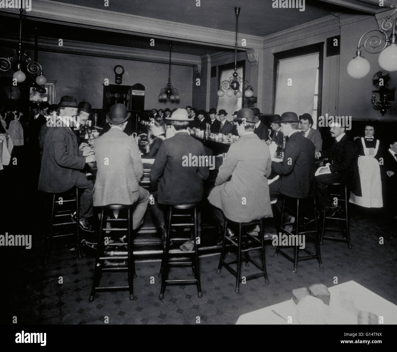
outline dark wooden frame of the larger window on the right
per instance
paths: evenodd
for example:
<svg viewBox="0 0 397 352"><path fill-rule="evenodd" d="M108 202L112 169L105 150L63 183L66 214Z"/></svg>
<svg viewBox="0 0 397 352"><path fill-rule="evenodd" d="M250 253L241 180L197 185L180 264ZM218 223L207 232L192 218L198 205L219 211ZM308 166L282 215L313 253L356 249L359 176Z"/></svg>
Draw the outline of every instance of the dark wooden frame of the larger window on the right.
<svg viewBox="0 0 397 352"><path fill-rule="evenodd" d="M317 115L321 116L322 111L322 84L323 84L323 68L324 68L324 42L301 46L295 49L284 50L282 52L273 53L273 102L272 114L274 115L274 107L276 105L276 88L277 88L277 70L279 60L291 59L297 56L318 53L318 99L317 99ZM314 99L314 96L313 96Z"/></svg>

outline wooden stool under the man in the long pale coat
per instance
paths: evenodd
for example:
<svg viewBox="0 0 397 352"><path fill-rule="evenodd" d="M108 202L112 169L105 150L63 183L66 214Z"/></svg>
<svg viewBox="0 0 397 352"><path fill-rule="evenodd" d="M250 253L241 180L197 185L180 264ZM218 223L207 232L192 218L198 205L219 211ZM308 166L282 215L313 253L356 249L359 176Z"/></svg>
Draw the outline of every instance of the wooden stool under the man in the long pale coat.
<svg viewBox="0 0 397 352"><path fill-rule="evenodd" d="M266 273L266 263L265 263L265 247L264 247L264 239L263 239L263 230L264 230L264 218L260 219L260 220L254 220L251 222L239 222L239 235L237 238L237 243L235 242L235 238L229 238L227 237L226 233L227 233L227 224L228 222L231 222L231 220L227 220L225 219L225 224L224 224L224 237L223 237L223 241L222 241L222 251L221 251L221 256L219 259L219 265L218 265L218 270L216 270L217 274L221 273L221 269L222 266L225 266L235 277L236 277L236 287L234 289L235 293L238 293L240 290L240 281L242 281L241 278L241 253L244 253L245 255L245 266L249 266L249 262L251 262L252 264L254 264L257 268L260 269L260 272L256 273L256 274L251 274L251 275L247 275L246 279L253 279L254 277L259 277L259 276L264 276L265 277L265 283L269 284L269 280L268 280L268 274ZM259 237L260 239L258 239L257 237L254 237L252 235L249 235L248 233L246 233L245 235L242 234L242 228L246 227L246 226L255 226L255 225L259 225L260 226L260 231L259 231ZM245 246L243 249L242 246L242 236L245 236ZM252 238L252 241L257 242L259 244L257 244L254 247L249 247L249 236ZM226 255L226 240L231 242L232 245L234 245L235 247L237 247L237 259L232 259L232 260L225 260L225 255ZM257 249L260 249L261 251L261 258L262 258L262 265L260 265L258 262L256 262L256 260L252 259L251 256L248 254L250 251L255 251ZM237 263L237 271L235 271L230 264L235 264Z"/></svg>

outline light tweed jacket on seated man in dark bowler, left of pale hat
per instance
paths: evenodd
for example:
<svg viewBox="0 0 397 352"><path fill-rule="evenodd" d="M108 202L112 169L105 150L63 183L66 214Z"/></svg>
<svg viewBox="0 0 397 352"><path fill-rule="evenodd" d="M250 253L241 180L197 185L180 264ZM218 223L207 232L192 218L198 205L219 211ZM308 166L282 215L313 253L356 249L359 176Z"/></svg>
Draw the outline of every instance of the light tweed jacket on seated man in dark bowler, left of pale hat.
<svg viewBox="0 0 397 352"><path fill-rule="evenodd" d="M133 204L139 198L143 176L141 153L135 139L112 127L94 140L98 173L94 185L94 207Z"/></svg>

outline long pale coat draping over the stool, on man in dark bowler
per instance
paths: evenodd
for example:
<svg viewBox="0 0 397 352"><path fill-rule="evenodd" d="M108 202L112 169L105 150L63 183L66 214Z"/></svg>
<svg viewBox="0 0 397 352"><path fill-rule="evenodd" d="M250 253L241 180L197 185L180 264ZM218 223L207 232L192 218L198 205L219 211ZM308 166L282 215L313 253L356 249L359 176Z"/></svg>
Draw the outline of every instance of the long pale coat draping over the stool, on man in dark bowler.
<svg viewBox="0 0 397 352"><path fill-rule="evenodd" d="M253 133L241 136L230 146L208 201L235 222L272 217L267 182L271 165L266 143Z"/></svg>

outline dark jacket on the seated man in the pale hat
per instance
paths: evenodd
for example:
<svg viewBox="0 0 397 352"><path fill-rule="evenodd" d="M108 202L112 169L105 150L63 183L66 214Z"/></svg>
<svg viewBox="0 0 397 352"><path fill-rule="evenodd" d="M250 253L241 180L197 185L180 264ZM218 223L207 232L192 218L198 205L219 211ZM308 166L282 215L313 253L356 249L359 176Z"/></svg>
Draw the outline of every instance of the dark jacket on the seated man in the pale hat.
<svg viewBox="0 0 397 352"><path fill-rule="evenodd" d="M177 132L158 149L150 170L150 182L158 189L160 204L178 205L200 202L202 180L209 175L208 166L183 166L184 157L205 155L204 145L185 132Z"/></svg>

